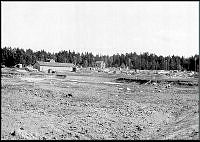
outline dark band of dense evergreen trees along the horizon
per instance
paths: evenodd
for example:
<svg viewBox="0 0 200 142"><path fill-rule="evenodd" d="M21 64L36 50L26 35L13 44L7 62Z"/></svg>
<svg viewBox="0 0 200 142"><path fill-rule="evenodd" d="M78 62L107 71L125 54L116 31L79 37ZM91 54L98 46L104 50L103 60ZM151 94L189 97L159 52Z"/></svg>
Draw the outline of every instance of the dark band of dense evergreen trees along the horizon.
<svg viewBox="0 0 200 142"><path fill-rule="evenodd" d="M91 52L75 53L74 51L59 51L49 53L44 50L34 52L31 49L4 47L1 48L1 65L13 67L16 64L33 65L36 61L54 59L61 63L74 63L82 67L94 67L96 61L104 61L106 67L129 67L141 70L199 70L199 55L188 58L180 56L157 56L148 52L137 54L93 55Z"/></svg>

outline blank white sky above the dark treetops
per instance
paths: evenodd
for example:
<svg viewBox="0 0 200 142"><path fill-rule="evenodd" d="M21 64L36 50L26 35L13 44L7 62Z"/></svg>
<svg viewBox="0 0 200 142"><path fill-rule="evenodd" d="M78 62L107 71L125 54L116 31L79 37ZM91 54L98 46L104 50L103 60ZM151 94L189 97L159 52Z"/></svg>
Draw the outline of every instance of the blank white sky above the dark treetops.
<svg viewBox="0 0 200 142"><path fill-rule="evenodd" d="M1 46L189 57L199 54L199 3L1 2Z"/></svg>

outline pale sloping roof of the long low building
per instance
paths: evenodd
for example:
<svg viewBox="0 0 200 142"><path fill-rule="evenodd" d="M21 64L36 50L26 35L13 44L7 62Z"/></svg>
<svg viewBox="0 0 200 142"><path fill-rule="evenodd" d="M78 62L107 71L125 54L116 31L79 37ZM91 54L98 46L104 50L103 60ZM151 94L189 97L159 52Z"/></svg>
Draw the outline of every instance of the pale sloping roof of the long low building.
<svg viewBox="0 0 200 142"><path fill-rule="evenodd" d="M58 62L42 62L37 61L40 66L52 66L52 67L74 67L72 63L58 63Z"/></svg>

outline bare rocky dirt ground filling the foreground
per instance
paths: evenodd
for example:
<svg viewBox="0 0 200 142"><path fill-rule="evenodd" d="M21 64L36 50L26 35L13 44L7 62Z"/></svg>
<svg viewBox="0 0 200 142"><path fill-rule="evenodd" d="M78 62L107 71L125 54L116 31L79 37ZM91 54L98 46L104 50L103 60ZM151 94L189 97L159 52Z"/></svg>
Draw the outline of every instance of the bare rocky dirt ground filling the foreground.
<svg viewBox="0 0 200 142"><path fill-rule="evenodd" d="M198 86L2 76L1 139L199 139Z"/></svg>

